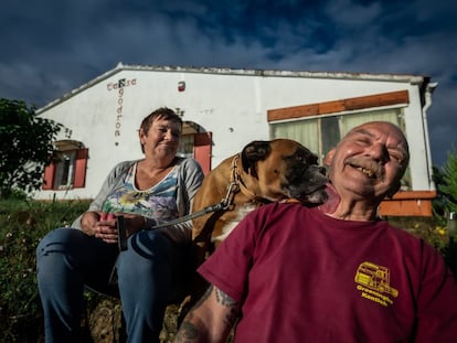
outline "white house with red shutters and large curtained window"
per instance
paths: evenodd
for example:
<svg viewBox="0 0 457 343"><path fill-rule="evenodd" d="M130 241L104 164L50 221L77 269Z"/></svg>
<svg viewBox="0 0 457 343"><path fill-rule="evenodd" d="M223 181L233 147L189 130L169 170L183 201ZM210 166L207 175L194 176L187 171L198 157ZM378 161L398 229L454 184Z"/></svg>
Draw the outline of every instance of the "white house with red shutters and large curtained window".
<svg viewBox="0 0 457 343"><path fill-rule="evenodd" d="M353 126L398 125L411 146L403 189L384 215L432 215L436 196L427 109L436 84L418 75L124 65L40 108L66 128L40 200L92 199L119 161L142 157L137 130L158 107L185 122L181 153L208 172L252 140L285 137L319 157Z"/></svg>

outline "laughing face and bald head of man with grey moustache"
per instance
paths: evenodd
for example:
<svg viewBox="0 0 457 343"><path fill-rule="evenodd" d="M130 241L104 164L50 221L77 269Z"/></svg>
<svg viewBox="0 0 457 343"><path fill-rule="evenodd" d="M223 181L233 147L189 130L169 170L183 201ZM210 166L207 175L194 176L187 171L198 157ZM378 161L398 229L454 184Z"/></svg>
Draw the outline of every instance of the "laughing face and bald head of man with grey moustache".
<svg viewBox="0 0 457 343"><path fill-rule="evenodd" d="M408 161L402 131L387 122L368 122L352 129L329 152L329 179L340 196L374 202L400 187Z"/></svg>

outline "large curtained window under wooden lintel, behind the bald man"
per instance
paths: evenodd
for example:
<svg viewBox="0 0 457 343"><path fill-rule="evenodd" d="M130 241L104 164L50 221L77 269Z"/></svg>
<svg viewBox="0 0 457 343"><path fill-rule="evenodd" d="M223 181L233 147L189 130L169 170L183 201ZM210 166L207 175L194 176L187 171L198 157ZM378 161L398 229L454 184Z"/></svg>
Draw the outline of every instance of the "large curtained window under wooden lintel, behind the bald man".
<svg viewBox="0 0 457 343"><path fill-rule="evenodd" d="M268 111L272 139L289 138L315 152L322 163L327 152L353 127L372 120L390 121L405 131L404 107L407 92L280 108ZM411 190L406 170L402 189Z"/></svg>

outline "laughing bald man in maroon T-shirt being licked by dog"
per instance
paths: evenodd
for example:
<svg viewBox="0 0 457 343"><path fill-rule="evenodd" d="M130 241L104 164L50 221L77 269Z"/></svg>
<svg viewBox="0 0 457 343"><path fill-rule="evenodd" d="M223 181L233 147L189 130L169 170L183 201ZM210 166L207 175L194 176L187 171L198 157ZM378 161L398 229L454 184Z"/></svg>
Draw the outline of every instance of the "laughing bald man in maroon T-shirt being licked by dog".
<svg viewBox="0 0 457 343"><path fill-rule="evenodd" d="M177 342L457 342L457 283L423 240L376 216L408 147L394 125L352 129L326 157L330 200L251 213L199 271L211 286Z"/></svg>

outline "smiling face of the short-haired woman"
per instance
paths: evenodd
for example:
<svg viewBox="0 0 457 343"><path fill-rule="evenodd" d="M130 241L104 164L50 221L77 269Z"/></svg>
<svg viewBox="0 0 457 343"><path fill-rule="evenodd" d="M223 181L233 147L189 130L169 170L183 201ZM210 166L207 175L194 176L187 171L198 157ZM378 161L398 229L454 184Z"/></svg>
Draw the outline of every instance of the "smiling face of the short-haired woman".
<svg viewBox="0 0 457 343"><path fill-rule="evenodd" d="M160 118L152 121L147 132L140 129L139 137L145 156L173 159L178 152L181 130L181 124Z"/></svg>

